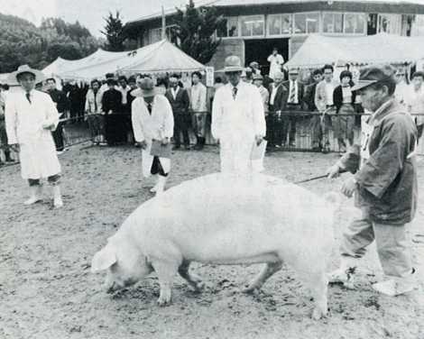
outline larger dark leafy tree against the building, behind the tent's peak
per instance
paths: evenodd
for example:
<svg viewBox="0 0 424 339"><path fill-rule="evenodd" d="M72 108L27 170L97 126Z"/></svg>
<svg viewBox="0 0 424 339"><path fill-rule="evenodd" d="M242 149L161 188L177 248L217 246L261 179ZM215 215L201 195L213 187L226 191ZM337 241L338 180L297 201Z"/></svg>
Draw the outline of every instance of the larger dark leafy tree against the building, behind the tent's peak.
<svg viewBox="0 0 424 339"><path fill-rule="evenodd" d="M171 27L171 41L190 57L206 64L221 43L221 39L215 38L215 32L226 26L226 19L217 14L216 7L196 8L190 0L184 12L177 8L172 23L175 25Z"/></svg>

